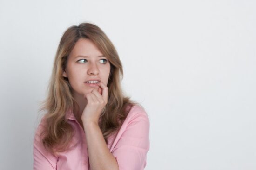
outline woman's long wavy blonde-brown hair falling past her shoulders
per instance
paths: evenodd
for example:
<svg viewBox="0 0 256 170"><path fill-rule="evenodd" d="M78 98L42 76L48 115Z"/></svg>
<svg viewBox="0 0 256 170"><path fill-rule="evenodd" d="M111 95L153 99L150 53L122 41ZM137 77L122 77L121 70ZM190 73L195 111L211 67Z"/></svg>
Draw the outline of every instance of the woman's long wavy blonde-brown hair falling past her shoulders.
<svg viewBox="0 0 256 170"><path fill-rule="evenodd" d="M121 89L122 64L114 45L107 35L98 26L91 23L81 23L78 26L69 27L64 32L58 46L47 88L47 98L41 102L39 109L39 111L46 111L43 117L46 126L40 134L40 139L47 151L54 155L57 155L57 152L67 151L72 148L70 143L74 136L74 129L68 123L65 115L67 110L72 109L73 111L74 105L78 106L78 103L72 96L72 88L67 77L63 77L62 73L66 68L68 55L80 38L92 40L110 62L107 85L108 103L101 113L101 122L99 122L107 144L108 137L120 129L131 106L138 104L123 94Z"/></svg>

